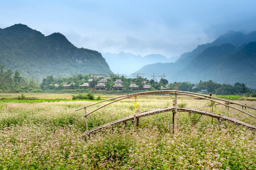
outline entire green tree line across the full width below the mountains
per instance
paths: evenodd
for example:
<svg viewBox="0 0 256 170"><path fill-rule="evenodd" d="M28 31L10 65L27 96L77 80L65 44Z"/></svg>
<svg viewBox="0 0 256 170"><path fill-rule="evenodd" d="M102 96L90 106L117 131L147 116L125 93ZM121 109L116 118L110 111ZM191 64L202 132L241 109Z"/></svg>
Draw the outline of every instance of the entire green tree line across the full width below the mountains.
<svg viewBox="0 0 256 170"><path fill-rule="evenodd" d="M39 80L35 80L35 77L25 78L20 76L20 73L16 70L14 73L11 69L4 71L4 65L0 65L0 92L44 92L44 91L61 91L64 92L64 84L75 83L73 85L73 91L90 91L95 85L98 84L99 80L103 77L94 78L91 74L77 74L69 77L53 78L53 75L49 75L43 78L40 83ZM92 79L92 81L88 81ZM124 83L122 91L131 91L130 84L134 83L139 86L139 90L143 89L143 83L150 85L148 91L161 90L161 86L165 87L167 90L174 90L174 83L169 83L168 80L161 78L159 82L155 80L148 80L137 76L136 78L127 78L119 75L111 75L111 79L107 79L105 85L107 86L106 91L112 90L113 85L115 85L116 79L121 79ZM143 82L144 81L144 82ZM89 83L91 88L80 89L79 85L83 83ZM54 86L54 84L59 84L59 87ZM246 84L236 82L234 85L230 84L220 84L213 82L212 80L200 81L199 83L193 84L190 82L178 82L177 89L179 91L187 92L199 92L201 90L207 90L207 93L217 94L217 95L253 95L256 96L255 89L246 87Z"/></svg>

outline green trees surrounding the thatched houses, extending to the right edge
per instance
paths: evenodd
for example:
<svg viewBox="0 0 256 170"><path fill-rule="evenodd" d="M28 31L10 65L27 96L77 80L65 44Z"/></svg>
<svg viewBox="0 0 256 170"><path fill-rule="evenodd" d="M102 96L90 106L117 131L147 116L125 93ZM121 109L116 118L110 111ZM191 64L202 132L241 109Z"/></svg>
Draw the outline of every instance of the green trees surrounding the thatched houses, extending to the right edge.
<svg viewBox="0 0 256 170"><path fill-rule="evenodd" d="M91 82L89 82L89 79L93 79ZM102 77L103 78L103 77ZM41 88L43 90L63 90L64 86L63 84L70 84L75 83L74 89L78 90L79 85L82 85L83 83L90 83L91 87L93 88L95 85L98 84L98 81L101 78L94 78L93 75L83 75L83 74L77 74L74 76L70 76L68 78L53 78L53 76L47 76L43 79L43 82L41 83ZM159 82L155 80L148 80L147 78L139 77L136 78L127 78L124 76L119 75L111 75L111 79L108 79L105 85L107 86L106 90L110 91L112 90L112 87L116 79L121 79L124 83L122 85L124 88L122 91L131 91L130 84L135 83L139 86L139 90L143 90L143 83L142 81L146 81L146 84L150 85L149 91L153 90L161 90L161 86L167 88L168 90L174 90L174 83L169 83L168 80L161 78ZM55 87L54 84L58 83L60 87ZM246 87L246 84L236 82L234 85L230 84L220 84L217 82L213 82L212 80L208 81L200 81L199 83L193 84L190 82L178 82L177 83L177 89L179 91L187 91L187 92L199 92L201 90L207 90L207 93L217 94L217 95L250 95L255 94L255 89L251 89ZM83 89L84 90L84 89ZM86 90L84 90L86 91ZM88 90L87 90L88 91Z"/></svg>

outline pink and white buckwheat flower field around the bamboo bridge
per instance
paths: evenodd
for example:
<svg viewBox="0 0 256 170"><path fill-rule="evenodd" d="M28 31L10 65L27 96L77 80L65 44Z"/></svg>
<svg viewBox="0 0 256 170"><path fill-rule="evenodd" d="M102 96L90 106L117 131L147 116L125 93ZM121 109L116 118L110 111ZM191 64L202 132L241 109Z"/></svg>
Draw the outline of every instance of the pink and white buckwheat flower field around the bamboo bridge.
<svg viewBox="0 0 256 170"><path fill-rule="evenodd" d="M138 127L127 122L84 139L84 110L75 110L93 102L0 102L0 169L256 169L255 131L228 122L220 126L216 119L212 124L204 115L196 122L200 115L178 112L176 134L172 112L166 112L140 118ZM133 102L121 100L92 113L89 129L134 114ZM255 101L237 102L256 107ZM137 103L146 111L171 106L172 99L138 97ZM206 103L178 100L209 110ZM214 111L256 125L256 119L234 109L218 105Z"/></svg>

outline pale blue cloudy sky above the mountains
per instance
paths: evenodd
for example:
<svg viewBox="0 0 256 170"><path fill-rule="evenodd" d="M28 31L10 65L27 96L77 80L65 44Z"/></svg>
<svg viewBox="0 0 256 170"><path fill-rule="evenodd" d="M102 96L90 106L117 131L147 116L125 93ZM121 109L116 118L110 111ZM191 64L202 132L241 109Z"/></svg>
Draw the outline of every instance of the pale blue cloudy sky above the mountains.
<svg viewBox="0 0 256 170"><path fill-rule="evenodd" d="M2 1L0 28L60 32L78 48L180 56L228 30L256 30L254 0Z"/></svg>

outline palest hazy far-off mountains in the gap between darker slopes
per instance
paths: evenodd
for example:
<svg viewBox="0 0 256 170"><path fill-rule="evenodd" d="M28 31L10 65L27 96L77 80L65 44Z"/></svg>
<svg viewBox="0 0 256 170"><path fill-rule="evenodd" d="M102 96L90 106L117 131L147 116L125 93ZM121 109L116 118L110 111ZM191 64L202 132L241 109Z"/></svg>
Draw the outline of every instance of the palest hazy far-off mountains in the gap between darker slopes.
<svg viewBox="0 0 256 170"><path fill-rule="evenodd" d="M106 59L110 69L114 73L130 75L132 72L140 69L145 64L153 64L157 62L170 63L175 62L179 57L166 58L160 54L150 54L142 57L132 53L120 52L119 54L102 53Z"/></svg>

